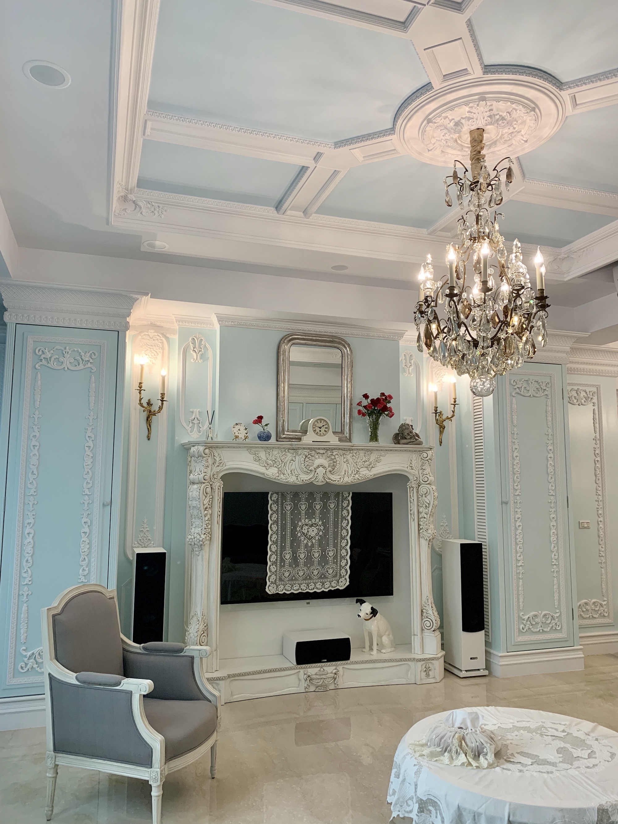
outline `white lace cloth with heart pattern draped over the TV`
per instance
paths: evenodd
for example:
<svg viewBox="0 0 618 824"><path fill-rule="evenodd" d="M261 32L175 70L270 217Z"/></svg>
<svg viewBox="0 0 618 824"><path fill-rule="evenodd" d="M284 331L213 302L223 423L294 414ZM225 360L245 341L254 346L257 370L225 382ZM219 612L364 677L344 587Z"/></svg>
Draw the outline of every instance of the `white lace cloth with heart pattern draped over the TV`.
<svg viewBox="0 0 618 824"><path fill-rule="evenodd" d="M351 492L270 492L266 592L349 584Z"/></svg>

